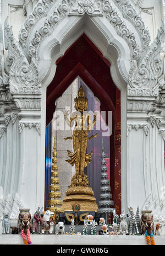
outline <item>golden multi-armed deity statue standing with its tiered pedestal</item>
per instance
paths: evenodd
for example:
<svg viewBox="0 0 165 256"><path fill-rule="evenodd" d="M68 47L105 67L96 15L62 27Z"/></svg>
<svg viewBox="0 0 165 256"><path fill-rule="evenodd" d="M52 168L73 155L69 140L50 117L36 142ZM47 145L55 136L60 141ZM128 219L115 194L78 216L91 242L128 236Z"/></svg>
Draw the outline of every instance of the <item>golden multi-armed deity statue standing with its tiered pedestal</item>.
<svg viewBox="0 0 165 256"><path fill-rule="evenodd" d="M66 161L72 166L75 165L75 174L73 175L70 186L66 191L67 198L64 198L63 207L65 210L70 210L71 202L76 200L81 205L81 211L94 210L97 211L96 199L94 198L94 191L89 187L87 175L84 174L84 167L91 162L92 151L87 154L87 140L96 137L97 134L88 136L92 127L96 124L96 115L94 121L91 121L91 115L87 113L87 98L85 98L84 89L81 86L78 91L78 98L74 99L76 111L70 115L68 119L68 111L65 111L65 121L70 127L74 127L73 136L64 138L65 140L73 140L74 152L68 150L68 157ZM74 195L74 196L73 196ZM70 203L69 203L70 202ZM87 206L89 205L89 206ZM86 209L87 208L87 209ZM90 208L90 209L89 209Z"/></svg>

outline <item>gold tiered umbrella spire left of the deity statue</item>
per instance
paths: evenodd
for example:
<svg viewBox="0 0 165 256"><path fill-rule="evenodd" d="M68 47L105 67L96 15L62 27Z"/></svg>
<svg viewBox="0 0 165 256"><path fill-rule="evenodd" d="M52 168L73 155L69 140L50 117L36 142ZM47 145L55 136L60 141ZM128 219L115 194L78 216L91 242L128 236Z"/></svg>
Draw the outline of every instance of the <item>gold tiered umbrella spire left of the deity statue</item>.
<svg viewBox="0 0 165 256"><path fill-rule="evenodd" d="M57 152L56 152L56 142L54 137L54 147L53 147L53 159L52 159L52 172L51 172L51 185L49 200L47 201L48 207L46 210L53 211L54 214L59 214L63 212L61 207L63 200L61 200L61 192L58 178L58 166L57 166Z"/></svg>

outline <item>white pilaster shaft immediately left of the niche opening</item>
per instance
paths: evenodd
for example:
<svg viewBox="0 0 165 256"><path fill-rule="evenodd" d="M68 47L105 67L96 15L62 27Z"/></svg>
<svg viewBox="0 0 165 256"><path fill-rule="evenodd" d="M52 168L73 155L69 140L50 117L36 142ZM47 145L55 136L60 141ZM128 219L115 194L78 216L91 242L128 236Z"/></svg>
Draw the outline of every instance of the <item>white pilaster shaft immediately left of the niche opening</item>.
<svg viewBox="0 0 165 256"><path fill-rule="evenodd" d="M20 179L18 193L21 195L25 207L31 213L36 211L38 194L43 193L40 188L40 122L19 121L20 131Z"/></svg>

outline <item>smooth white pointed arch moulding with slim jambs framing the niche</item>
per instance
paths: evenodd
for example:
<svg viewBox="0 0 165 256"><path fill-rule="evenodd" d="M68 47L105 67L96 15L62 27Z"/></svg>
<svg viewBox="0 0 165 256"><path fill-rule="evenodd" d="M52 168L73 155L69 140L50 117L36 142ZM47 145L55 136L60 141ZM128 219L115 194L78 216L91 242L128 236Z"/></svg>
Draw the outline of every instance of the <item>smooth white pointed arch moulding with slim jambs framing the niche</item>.
<svg viewBox="0 0 165 256"><path fill-rule="evenodd" d="M46 73L46 76L43 76L44 78L41 81L41 172L42 174L45 173L46 90L56 73L57 60L67 52L70 46L72 46L81 35L85 34L101 52L102 56L106 57L109 63L111 63L109 70L111 72L112 81L120 89L122 208L127 209L127 83L131 50L127 42L117 35L116 31L109 25L107 20L103 21L102 19L105 18L89 17L87 15L83 17L66 17L63 22L54 29L51 36L42 42L38 50L38 56L41 60L38 71ZM98 24L98 22L100 23Z"/></svg>

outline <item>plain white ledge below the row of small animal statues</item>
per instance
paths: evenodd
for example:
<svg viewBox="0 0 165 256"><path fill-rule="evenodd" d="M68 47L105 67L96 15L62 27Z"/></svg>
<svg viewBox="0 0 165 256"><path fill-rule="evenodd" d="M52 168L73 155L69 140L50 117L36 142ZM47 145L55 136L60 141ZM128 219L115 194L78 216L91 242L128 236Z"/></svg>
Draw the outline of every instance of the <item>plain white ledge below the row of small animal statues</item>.
<svg viewBox="0 0 165 256"><path fill-rule="evenodd" d="M165 245L165 236L155 236L156 245ZM40 245L146 245L145 236L83 236L31 234L32 244ZM1 244L24 244L21 234L0 234Z"/></svg>

